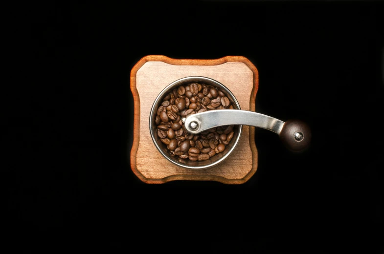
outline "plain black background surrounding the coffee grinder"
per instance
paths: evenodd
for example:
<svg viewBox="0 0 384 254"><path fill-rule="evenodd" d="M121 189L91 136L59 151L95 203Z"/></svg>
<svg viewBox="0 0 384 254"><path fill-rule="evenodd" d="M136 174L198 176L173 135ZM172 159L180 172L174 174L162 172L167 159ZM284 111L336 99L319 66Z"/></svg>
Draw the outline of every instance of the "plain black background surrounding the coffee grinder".
<svg viewBox="0 0 384 254"><path fill-rule="evenodd" d="M15 135L4 138L3 178L15 247L383 253L383 2L50 1L15 10L6 118ZM258 169L242 185L141 182L130 169L129 76L147 55L248 58L259 71L256 111L307 122L311 147L292 154L256 129Z"/></svg>

